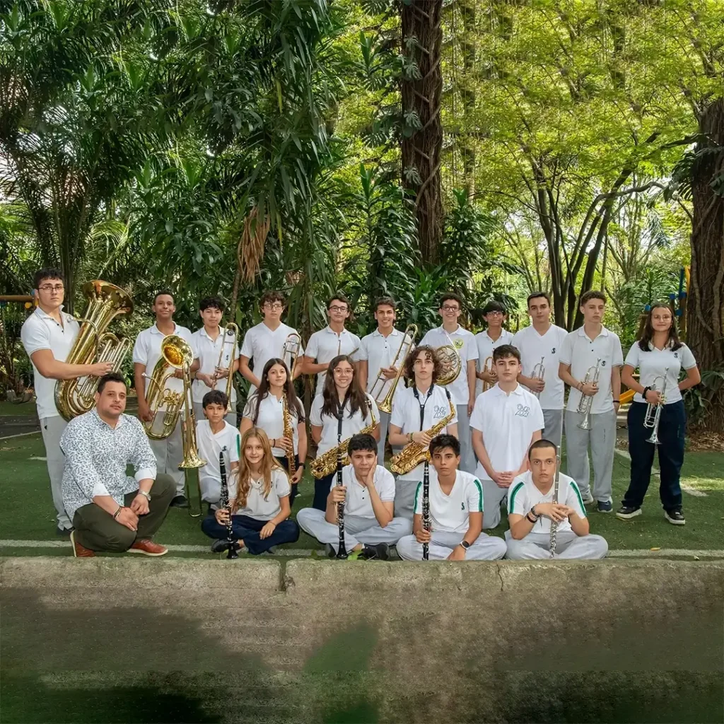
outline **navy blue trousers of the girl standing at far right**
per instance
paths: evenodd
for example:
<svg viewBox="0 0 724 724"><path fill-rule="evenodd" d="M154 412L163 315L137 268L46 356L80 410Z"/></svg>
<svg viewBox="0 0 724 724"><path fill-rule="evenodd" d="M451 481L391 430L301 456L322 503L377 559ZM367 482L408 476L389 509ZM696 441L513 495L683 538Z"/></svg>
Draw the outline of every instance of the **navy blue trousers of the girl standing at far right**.
<svg viewBox="0 0 724 724"><path fill-rule="evenodd" d="M681 508L679 478L683 465L683 446L686 434L686 411L683 400L664 405L659 423L659 445L647 442L651 429L644 427L646 403L631 403L628 408L628 454L631 455L631 482L623 497L627 508L640 508L651 482L654 452L658 448L661 484L659 494L664 510Z"/></svg>

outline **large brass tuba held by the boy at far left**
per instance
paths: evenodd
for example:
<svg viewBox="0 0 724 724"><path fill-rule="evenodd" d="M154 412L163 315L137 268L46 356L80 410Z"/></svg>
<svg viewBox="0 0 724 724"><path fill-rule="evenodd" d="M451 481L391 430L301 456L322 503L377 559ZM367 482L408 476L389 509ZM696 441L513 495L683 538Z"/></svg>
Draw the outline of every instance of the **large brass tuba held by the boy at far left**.
<svg viewBox="0 0 724 724"><path fill-rule="evenodd" d="M83 285L83 296L88 300L88 307L85 315L77 318L82 324L66 362L110 362L113 371L117 372L130 350L130 340L106 332L106 328L117 316L129 316L133 311L133 302L120 287L102 279L86 282ZM92 376L59 380L55 386L55 404L59 413L70 421L90 411L95 405L97 387L98 382Z"/></svg>

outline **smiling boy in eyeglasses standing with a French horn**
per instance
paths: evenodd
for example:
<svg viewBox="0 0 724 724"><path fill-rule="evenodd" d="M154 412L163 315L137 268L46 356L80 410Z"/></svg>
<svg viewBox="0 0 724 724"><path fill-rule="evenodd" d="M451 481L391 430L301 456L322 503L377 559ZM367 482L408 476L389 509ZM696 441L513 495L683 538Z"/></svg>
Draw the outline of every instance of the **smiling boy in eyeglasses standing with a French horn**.
<svg viewBox="0 0 724 724"><path fill-rule="evenodd" d="M475 405L475 364L478 359L478 348L473 333L458 324L462 311L463 300L457 294L448 292L442 295L438 310L442 324L427 332L420 346L429 345L437 350L452 345L460 355L460 374L444 387L450 392L452 404L458 413L460 470L473 473L475 455L470 437L470 416Z"/></svg>

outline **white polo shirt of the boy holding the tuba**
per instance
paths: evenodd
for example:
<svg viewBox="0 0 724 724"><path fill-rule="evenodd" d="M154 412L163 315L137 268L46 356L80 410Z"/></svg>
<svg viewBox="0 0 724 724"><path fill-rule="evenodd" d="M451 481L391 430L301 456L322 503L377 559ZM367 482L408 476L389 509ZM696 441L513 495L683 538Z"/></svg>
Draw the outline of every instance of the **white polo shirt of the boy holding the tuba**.
<svg viewBox="0 0 724 724"><path fill-rule="evenodd" d="M40 307L35 307L35 311L22 323L20 340L28 357L38 350L51 350L57 361L67 360L80 332L80 325L70 314L62 310L61 306L60 316L63 324L59 324ZM43 377L32 359L30 362L33 364L38 418L42 420L46 417L58 417L60 413L55 406L55 385L58 381L51 377Z"/></svg>

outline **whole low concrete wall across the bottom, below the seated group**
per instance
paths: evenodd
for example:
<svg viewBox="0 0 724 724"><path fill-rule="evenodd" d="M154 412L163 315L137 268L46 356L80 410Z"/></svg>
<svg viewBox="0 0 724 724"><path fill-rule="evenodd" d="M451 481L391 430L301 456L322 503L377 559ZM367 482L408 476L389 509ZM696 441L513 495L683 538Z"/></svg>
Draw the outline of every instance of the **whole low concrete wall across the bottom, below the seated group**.
<svg viewBox="0 0 724 724"><path fill-rule="evenodd" d="M724 720L724 563L28 557L0 575L4 722Z"/></svg>

